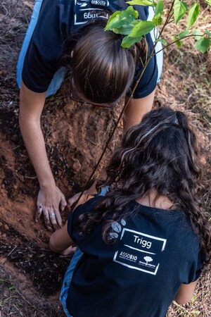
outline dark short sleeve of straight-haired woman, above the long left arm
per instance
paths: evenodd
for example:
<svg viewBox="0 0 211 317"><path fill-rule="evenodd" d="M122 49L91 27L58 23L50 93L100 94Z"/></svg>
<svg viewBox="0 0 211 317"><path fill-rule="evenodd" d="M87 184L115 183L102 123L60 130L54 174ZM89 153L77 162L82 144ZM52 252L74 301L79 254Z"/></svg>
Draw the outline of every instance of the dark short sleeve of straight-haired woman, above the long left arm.
<svg viewBox="0 0 211 317"><path fill-rule="evenodd" d="M63 45L60 27L61 7L56 1L43 1L39 18L23 63L22 80L33 92L46 92L58 70Z"/></svg>

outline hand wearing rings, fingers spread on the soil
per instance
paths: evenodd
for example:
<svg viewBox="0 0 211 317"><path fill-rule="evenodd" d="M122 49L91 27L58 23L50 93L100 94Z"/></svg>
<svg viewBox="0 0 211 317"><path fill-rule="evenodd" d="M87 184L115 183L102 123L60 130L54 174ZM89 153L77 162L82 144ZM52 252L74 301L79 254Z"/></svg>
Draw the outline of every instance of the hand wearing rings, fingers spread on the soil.
<svg viewBox="0 0 211 317"><path fill-rule="evenodd" d="M44 215L44 222L48 230L58 229L62 227L62 218L60 216L59 209L63 211L67 206L65 196L58 187L53 187L53 189L39 189L39 194L37 197L37 213L35 221L37 222L41 216Z"/></svg>

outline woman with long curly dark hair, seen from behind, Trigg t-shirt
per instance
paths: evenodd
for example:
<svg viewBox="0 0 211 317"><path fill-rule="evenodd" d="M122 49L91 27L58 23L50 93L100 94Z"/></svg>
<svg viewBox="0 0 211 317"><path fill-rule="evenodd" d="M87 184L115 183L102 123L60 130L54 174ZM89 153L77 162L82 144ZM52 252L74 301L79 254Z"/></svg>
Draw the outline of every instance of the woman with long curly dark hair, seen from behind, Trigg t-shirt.
<svg viewBox="0 0 211 317"><path fill-rule="evenodd" d="M50 247L77 265L60 300L67 316L164 317L175 300L191 301L210 262L207 213L200 204L196 136L180 111L159 108L129 128L106 168L105 197L70 213ZM74 269L74 271L73 271ZM73 275L72 275L73 271Z"/></svg>

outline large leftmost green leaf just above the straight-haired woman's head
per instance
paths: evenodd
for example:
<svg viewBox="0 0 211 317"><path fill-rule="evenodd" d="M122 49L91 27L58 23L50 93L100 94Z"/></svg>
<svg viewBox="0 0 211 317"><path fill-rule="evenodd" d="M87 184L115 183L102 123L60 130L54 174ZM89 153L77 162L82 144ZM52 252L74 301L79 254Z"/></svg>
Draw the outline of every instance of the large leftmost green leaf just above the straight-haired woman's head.
<svg viewBox="0 0 211 317"><path fill-rule="evenodd" d="M110 16L106 24L105 31L110 30L117 34L129 35L137 20L139 13L132 6L128 6L124 11L116 11Z"/></svg>

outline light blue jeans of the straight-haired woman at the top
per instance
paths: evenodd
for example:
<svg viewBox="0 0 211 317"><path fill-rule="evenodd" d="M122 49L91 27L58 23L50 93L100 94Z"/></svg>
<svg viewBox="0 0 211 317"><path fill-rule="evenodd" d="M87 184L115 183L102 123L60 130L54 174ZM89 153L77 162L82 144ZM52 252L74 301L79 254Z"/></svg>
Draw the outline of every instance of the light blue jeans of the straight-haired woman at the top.
<svg viewBox="0 0 211 317"><path fill-rule="evenodd" d="M35 0L32 18L30 20L30 24L29 24L29 27L27 29L25 39L23 41L22 48L20 50L20 55L18 58L18 65L17 65L17 83L18 83L19 88L21 85L21 77L22 77L22 70L23 70L23 63L24 63L24 59L25 59L25 54L26 54L27 48L30 44L30 39L31 39L32 34L34 32L34 27L37 24L37 19L39 16L39 11L41 8L42 1L43 0ZM154 11L153 11L153 8L151 6L148 8L148 12L149 12L148 20L152 20L153 15L154 15ZM156 35L158 35L157 28L155 28L154 30L151 31L151 37L153 39L153 42L155 41L155 37L157 37ZM160 51L160 49L162 49L162 44L160 42L158 42L158 44L155 47L155 52ZM157 80L157 82L160 82L160 76L162 73L162 63L163 63L162 51L160 51L156 55L156 58L157 58L157 64L158 64L158 80ZM57 70L57 72L54 74L53 79L51 80L51 84L49 85L49 88L46 92L46 97L49 97L49 96L51 96L51 94L56 93L56 91L58 90L58 88L60 87L61 83L64 80L65 73L66 73L66 69L64 67L61 67Z"/></svg>

